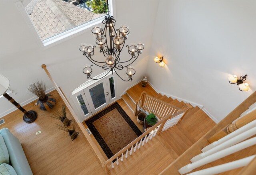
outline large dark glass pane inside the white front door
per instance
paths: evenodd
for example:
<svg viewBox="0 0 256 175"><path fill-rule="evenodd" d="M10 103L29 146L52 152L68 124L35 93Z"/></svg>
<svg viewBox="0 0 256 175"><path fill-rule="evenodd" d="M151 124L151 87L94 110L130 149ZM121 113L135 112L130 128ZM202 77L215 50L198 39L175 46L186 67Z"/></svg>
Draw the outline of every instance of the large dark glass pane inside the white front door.
<svg viewBox="0 0 256 175"><path fill-rule="evenodd" d="M92 97L92 102L94 105L94 108L98 108L102 104L106 103L106 98L105 98L105 92L103 88L103 83L100 83L96 85L93 88L89 89L90 95Z"/></svg>

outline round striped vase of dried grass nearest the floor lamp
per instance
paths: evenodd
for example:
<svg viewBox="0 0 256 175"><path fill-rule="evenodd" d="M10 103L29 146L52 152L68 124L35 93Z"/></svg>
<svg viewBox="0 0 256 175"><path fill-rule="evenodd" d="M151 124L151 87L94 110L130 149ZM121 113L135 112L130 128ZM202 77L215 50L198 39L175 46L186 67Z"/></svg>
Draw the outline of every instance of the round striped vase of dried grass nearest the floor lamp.
<svg viewBox="0 0 256 175"><path fill-rule="evenodd" d="M37 106L41 110L50 110L55 106L56 100L51 94L46 94L46 83L43 81L36 81L29 85L28 90L38 96Z"/></svg>

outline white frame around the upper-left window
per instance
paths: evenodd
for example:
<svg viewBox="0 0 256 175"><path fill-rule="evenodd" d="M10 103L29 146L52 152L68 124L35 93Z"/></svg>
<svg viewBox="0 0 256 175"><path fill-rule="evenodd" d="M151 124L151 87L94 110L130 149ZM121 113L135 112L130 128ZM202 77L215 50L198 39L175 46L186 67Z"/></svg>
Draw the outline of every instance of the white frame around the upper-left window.
<svg viewBox="0 0 256 175"><path fill-rule="evenodd" d="M57 45L59 43L62 43L64 41L67 41L69 39L72 39L78 35L81 35L83 33L86 33L88 31L91 31L91 27L96 24L102 23L102 20L104 20L105 16L102 16L100 18L97 18L95 20L92 20L90 22L87 22L85 24L82 24L80 26L77 26L75 28L69 29L68 31L64 31L62 33L59 33L58 35L54 35L48 39L42 40L34 26L34 23L30 19L27 11L26 6L31 2L32 0L24 0L24 2L18 1L15 2L16 7L21 12L22 16L24 17L24 20L28 24L30 30L32 31L34 37L36 37L36 40L42 50L48 49L50 47L53 47L54 45ZM110 15L116 16L116 0L108 0L109 2L109 10L111 12Z"/></svg>

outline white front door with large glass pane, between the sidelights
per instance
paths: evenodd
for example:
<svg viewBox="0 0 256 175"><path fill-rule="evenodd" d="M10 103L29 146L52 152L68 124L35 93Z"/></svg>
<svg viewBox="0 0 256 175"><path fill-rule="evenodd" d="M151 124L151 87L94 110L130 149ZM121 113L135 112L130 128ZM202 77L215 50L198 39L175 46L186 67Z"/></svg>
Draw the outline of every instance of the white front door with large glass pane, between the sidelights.
<svg viewBox="0 0 256 175"><path fill-rule="evenodd" d="M88 104L92 114L98 112L102 108L110 104L109 92L106 79L102 79L97 83L84 89L84 94L87 98Z"/></svg>

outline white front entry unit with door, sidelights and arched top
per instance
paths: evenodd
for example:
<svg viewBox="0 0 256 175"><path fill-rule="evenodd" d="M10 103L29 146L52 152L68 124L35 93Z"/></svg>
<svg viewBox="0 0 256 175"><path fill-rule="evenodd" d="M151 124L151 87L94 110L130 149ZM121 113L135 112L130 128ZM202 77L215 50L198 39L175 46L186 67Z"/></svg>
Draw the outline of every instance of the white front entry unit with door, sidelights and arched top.
<svg viewBox="0 0 256 175"><path fill-rule="evenodd" d="M114 75L108 75L98 81L86 82L73 91L72 98L80 120L86 120L116 100Z"/></svg>

